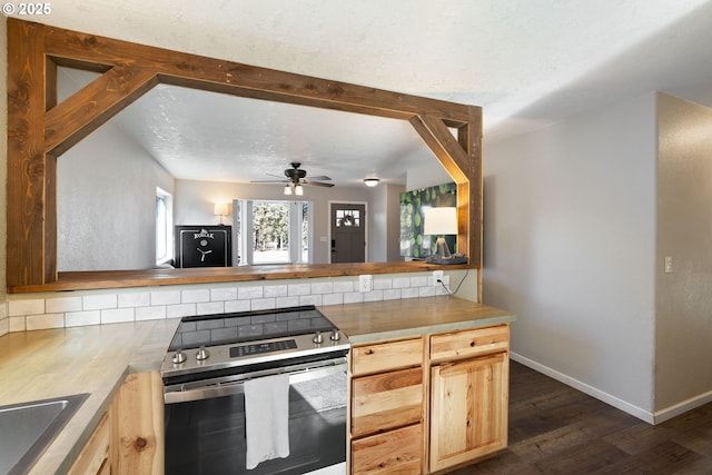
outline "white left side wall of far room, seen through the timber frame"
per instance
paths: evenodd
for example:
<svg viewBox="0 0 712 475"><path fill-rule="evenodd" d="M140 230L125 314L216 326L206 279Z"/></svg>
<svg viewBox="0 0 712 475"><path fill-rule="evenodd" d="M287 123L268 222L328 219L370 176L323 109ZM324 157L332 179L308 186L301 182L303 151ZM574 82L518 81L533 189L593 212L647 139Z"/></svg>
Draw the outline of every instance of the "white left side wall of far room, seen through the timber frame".
<svg viewBox="0 0 712 475"><path fill-rule="evenodd" d="M154 267L156 187L172 178L110 122L59 157L58 269Z"/></svg>

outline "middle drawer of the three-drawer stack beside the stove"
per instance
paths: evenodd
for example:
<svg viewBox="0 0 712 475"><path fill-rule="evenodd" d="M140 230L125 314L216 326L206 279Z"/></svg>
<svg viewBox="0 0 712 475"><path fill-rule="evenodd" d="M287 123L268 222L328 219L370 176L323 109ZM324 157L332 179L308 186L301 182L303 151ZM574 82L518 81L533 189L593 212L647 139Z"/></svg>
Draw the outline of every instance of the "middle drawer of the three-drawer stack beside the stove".
<svg viewBox="0 0 712 475"><path fill-rule="evenodd" d="M352 435L403 427L423 417L423 369L352 379Z"/></svg>

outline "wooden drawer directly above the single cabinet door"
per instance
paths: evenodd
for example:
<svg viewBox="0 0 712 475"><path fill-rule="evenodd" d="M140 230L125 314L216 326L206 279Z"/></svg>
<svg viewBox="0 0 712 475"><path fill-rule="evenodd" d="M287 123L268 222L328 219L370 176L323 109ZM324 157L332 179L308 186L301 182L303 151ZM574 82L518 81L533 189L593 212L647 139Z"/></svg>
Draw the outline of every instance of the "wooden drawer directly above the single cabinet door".
<svg viewBox="0 0 712 475"><path fill-rule="evenodd" d="M508 348L508 325L434 335L431 338L431 362L452 362L473 356L506 352Z"/></svg>

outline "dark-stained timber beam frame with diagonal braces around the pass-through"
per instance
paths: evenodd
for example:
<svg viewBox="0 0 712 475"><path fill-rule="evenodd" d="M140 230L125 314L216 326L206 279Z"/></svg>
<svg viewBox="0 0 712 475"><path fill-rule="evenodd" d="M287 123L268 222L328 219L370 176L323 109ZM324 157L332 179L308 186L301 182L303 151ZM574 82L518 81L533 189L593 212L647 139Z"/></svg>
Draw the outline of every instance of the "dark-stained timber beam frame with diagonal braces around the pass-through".
<svg viewBox="0 0 712 475"><path fill-rule="evenodd" d="M58 103L57 69L101 76ZM457 184L457 248L482 264L482 109L8 19L10 293L421 271L425 263L57 271L57 159L158 83L407 120ZM451 129L456 129L454 137Z"/></svg>

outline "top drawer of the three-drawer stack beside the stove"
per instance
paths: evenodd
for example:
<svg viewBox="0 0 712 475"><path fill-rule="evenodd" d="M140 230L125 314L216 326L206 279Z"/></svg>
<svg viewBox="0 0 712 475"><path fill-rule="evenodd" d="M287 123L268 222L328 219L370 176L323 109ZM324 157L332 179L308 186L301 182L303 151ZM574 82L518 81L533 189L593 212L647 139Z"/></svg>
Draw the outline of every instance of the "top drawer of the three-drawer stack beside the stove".
<svg viewBox="0 0 712 475"><path fill-rule="evenodd" d="M423 338L357 346L352 349L354 376L407 368L423 363Z"/></svg>

